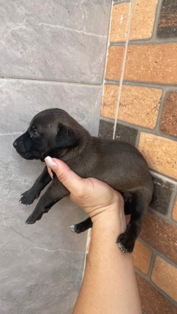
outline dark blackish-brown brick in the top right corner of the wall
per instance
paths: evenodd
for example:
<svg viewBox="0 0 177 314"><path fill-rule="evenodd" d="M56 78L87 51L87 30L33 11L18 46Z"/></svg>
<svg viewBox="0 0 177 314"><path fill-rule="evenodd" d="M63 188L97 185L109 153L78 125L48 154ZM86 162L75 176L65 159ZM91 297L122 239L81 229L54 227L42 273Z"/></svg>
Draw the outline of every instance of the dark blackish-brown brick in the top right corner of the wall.
<svg viewBox="0 0 177 314"><path fill-rule="evenodd" d="M157 36L177 37L177 0L163 0Z"/></svg>

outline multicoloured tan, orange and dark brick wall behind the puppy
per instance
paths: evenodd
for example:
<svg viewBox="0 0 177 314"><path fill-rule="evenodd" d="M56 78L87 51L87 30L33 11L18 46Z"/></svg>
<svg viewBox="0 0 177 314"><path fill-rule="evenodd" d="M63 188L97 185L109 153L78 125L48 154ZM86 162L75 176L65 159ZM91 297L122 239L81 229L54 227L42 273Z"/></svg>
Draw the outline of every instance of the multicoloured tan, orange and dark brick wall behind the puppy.
<svg viewBox="0 0 177 314"><path fill-rule="evenodd" d="M141 304L176 313L177 0L114 1L99 136L148 162L154 195L133 252Z"/></svg>

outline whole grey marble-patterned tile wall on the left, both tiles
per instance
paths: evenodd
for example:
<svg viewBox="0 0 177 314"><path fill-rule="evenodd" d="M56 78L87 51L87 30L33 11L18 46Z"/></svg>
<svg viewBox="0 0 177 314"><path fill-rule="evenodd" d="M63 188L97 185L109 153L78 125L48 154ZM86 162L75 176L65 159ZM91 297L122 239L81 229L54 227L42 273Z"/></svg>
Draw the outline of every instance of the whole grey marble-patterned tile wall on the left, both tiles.
<svg viewBox="0 0 177 314"><path fill-rule="evenodd" d="M12 143L52 107L97 135L110 7L111 0L0 2L1 314L72 313L87 233L68 227L85 214L64 199L25 225L37 201L20 205L20 194L44 164L23 160Z"/></svg>

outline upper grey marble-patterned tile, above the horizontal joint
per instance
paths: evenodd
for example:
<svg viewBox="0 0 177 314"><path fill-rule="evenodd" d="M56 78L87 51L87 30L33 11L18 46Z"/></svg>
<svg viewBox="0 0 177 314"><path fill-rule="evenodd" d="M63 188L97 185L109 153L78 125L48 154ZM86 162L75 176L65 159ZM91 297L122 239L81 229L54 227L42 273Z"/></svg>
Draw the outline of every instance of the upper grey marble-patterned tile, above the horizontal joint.
<svg viewBox="0 0 177 314"><path fill-rule="evenodd" d="M1 1L1 77L101 84L110 0Z"/></svg>

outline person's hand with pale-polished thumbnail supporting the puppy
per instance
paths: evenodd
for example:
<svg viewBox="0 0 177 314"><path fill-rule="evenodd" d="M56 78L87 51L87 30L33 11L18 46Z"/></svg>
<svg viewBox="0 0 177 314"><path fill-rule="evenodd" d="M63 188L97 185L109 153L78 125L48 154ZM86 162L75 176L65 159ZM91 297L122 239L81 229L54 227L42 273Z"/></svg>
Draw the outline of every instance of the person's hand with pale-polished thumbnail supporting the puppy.
<svg viewBox="0 0 177 314"><path fill-rule="evenodd" d="M69 190L68 198L79 205L91 217L93 223L101 217L115 219L119 216L123 229L126 229L124 199L119 192L95 178L80 178L62 160L48 156L45 162L49 174L51 175L51 168L58 180Z"/></svg>

